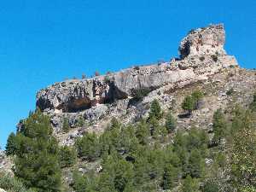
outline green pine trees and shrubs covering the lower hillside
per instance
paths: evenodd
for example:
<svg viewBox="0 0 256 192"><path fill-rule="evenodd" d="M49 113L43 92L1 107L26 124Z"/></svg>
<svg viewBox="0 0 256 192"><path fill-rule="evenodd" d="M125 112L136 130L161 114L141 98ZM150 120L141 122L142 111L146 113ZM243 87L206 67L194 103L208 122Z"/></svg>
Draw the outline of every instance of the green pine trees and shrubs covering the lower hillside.
<svg viewBox="0 0 256 192"><path fill-rule="evenodd" d="M183 109L192 113L202 96L200 91L186 96ZM163 112L154 100L148 119L135 125L112 119L102 135L86 133L74 148L57 145L48 117L37 110L20 132L9 136L6 153L15 155L15 178L1 177L0 187L65 191L61 168L73 167L70 187L76 192L255 192L255 103L254 95L249 108L218 109L212 130L182 130L172 111ZM83 174L73 166L77 157L102 168Z"/></svg>

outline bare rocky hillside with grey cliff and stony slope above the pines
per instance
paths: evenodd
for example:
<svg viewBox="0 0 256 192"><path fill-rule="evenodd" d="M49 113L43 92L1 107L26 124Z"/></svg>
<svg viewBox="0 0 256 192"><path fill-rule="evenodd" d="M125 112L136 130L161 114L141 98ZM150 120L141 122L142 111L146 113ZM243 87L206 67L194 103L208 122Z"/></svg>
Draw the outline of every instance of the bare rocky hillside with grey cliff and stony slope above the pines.
<svg viewBox="0 0 256 192"><path fill-rule="evenodd" d="M101 135L113 117L125 125L148 118L155 99L164 113L172 110L177 130L193 126L212 138L213 113L218 108L230 113L237 103L247 107L256 89L256 71L239 67L235 56L224 50L224 43L224 25L198 28L181 41L179 58L49 85L38 91L37 108L49 115L60 145L72 146L84 132ZM183 98L193 90L201 90L204 96L195 112L186 116L181 107ZM63 131L65 121L71 128L68 131ZM20 120L18 131L23 127L24 121ZM1 157L0 169L2 165L10 167L9 162ZM99 162L86 162L84 168L84 161L79 160L81 172L98 167ZM69 183L70 172L64 172L64 180Z"/></svg>

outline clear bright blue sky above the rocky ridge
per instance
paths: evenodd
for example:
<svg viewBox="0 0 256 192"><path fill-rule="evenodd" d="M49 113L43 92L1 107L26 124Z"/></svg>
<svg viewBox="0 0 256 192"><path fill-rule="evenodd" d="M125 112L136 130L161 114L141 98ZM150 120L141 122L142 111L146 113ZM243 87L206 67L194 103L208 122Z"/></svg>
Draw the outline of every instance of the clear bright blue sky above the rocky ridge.
<svg viewBox="0 0 256 192"><path fill-rule="evenodd" d="M0 146L66 78L169 61L191 29L224 23L226 50L253 68L255 0L8 0L0 3Z"/></svg>

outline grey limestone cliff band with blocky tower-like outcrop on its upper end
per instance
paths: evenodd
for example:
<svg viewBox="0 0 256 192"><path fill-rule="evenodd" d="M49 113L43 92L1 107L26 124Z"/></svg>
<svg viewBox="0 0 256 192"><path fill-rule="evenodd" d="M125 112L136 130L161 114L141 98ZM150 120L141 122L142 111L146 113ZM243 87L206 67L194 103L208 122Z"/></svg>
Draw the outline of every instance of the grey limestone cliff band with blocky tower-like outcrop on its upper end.
<svg viewBox="0 0 256 192"><path fill-rule="evenodd" d="M132 98L135 90L156 90L166 84L208 79L224 67L237 65L233 56L226 55L224 40L223 25L197 29L183 38L179 46L180 60L56 83L38 92L37 106L45 112L77 112L98 103Z"/></svg>

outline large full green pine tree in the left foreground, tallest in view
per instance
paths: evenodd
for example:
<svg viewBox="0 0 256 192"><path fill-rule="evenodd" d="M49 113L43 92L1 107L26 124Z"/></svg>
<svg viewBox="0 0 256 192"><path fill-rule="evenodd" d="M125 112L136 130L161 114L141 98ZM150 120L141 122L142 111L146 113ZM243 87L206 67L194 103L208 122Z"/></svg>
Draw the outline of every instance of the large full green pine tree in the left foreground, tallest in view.
<svg viewBox="0 0 256 192"><path fill-rule="evenodd" d="M24 121L20 131L19 153L15 157L15 176L27 188L38 192L61 190L58 145L49 117L37 110Z"/></svg>

